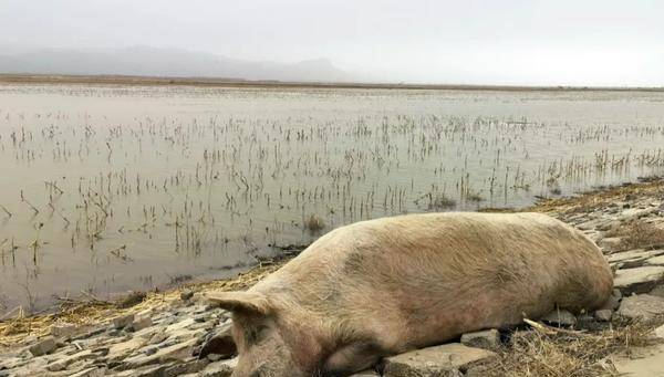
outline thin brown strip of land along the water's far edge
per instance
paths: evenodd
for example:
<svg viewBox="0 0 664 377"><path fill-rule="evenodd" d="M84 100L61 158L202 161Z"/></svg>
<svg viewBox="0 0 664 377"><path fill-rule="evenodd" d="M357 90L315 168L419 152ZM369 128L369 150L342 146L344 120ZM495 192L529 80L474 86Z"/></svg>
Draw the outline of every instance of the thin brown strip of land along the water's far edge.
<svg viewBox="0 0 664 377"><path fill-rule="evenodd" d="M222 77L164 77L129 75L4 74L0 84L46 85L128 85L128 86L196 86L226 88L319 88L319 90L416 90L416 91L486 91L486 92L649 92L664 93L661 87L620 86L541 86L476 84L407 84L356 82L283 82Z"/></svg>

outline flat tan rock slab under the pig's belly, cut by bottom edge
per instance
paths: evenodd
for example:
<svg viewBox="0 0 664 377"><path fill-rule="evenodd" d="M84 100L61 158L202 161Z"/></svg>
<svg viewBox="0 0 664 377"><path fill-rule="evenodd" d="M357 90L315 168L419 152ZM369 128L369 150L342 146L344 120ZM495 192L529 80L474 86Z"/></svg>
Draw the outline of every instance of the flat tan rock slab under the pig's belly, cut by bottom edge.
<svg viewBox="0 0 664 377"><path fill-rule="evenodd" d="M459 369L495 356L490 350L450 343L388 357L384 362L383 376L456 377L461 376Z"/></svg>

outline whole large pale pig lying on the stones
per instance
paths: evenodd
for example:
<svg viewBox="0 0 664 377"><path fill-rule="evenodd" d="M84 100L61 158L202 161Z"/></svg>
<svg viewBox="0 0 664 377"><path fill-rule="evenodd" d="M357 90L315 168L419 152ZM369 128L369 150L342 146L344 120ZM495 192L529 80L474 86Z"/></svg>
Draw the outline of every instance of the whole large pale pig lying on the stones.
<svg viewBox="0 0 664 377"><path fill-rule="evenodd" d="M345 376L386 355L556 306L601 306L609 264L573 228L539 213L428 213L363 221L323 235L232 311L232 376Z"/></svg>

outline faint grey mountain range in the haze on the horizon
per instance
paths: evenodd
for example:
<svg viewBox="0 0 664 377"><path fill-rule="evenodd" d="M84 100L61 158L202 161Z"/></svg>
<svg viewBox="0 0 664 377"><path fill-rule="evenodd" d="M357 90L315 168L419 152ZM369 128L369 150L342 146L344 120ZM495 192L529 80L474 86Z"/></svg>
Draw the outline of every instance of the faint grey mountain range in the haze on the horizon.
<svg viewBox="0 0 664 377"><path fill-rule="evenodd" d="M117 50L44 49L15 54L0 53L0 73L215 77L286 82L352 82L357 80L357 77L336 69L325 59L284 64L149 46Z"/></svg>

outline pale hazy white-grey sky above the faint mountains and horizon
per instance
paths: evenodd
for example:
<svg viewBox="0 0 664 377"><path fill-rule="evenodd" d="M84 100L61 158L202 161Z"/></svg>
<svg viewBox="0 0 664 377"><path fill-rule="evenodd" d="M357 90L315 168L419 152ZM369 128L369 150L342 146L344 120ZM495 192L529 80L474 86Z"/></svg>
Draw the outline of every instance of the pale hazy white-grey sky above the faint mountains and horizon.
<svg viewBox="0 0 664 377"><path fill-rule="evenodd" d="M661 0L0 0L0 46L178 48L377 80L664 86Z"/></svg>

